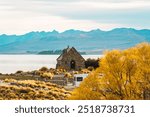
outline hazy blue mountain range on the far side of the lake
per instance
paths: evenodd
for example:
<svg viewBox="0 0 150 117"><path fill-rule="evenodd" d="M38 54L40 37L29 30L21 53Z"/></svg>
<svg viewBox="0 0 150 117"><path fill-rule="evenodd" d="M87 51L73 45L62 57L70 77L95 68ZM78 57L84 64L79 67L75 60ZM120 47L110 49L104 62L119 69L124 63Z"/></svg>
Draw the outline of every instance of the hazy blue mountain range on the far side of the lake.
<svg viewBox="0 0 150 117"><path fill-rule="evenodd" d="M150 42L150 30L115 28L110 31L66 30L62 33L29 32L24 35L0 35L0 54L62 50L74 46L87 54L100 54L104 50L126 49L141 42Z"/></svg>

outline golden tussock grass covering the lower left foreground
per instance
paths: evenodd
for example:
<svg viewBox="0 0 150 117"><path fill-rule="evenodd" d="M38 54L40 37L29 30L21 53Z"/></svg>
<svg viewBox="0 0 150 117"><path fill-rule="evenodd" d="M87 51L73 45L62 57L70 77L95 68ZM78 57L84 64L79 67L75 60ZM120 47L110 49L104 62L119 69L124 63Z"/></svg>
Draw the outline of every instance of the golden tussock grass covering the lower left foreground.
<svg viewBox="0 0 150 117"><path fill-rule="evenodd" d="M5 79L0 84L1 100L65 100L70 96L62 86L44 81Z"/></svg>

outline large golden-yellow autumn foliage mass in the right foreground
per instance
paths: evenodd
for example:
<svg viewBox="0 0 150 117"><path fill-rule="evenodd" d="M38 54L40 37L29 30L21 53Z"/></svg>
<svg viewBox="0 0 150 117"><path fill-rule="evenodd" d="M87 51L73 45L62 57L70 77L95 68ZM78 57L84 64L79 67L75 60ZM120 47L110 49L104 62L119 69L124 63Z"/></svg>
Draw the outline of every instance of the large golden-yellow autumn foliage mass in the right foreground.
<svg viewBox="0 0 150 117"><path fill-rule="evenodd" d="M150 44L107 51L100 67L69 99L145 99L150 91Z"/></svg>

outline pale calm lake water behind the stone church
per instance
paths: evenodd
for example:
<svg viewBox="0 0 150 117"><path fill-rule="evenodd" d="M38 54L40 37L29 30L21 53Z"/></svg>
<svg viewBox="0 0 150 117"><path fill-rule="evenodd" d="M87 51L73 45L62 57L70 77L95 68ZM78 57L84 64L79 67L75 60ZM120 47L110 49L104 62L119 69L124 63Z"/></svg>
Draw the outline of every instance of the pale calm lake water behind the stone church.
<svg viewBox="0 0 150 117"><path fill-rule="evenodd" d="M0 55L0 73L15 73L18 70L32 71L45 66L56 67L59 55ZM102 55L83 55L83 58L97 59Z"/></svg>

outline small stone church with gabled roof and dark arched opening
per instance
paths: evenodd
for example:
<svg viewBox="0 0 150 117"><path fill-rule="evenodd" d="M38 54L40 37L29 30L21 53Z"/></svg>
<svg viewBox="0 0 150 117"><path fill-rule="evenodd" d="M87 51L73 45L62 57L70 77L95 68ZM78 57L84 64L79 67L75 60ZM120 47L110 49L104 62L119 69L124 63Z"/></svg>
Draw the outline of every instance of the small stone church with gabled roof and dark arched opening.
<svg viewBox="0 0 150 117"><path fill-rule="evenodd" d="M85 68L85 59L74 47L68 47L64 49L62 54L57 58L56 68L80 70Z"/></svg>

